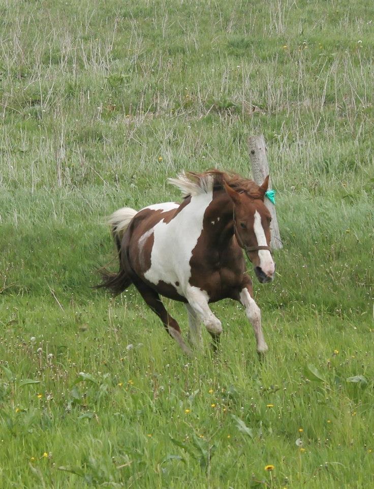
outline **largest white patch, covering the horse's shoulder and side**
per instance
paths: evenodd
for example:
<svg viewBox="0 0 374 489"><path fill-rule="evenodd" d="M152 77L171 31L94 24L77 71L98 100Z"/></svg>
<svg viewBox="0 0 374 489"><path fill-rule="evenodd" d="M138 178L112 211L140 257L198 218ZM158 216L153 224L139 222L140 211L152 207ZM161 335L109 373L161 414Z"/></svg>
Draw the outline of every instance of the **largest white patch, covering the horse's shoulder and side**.
<svg viewBox="0 0 374 489"><path fill-rule="evenodd" d="M160 281L172 284L178 294L186 297L191 278L192 251L203 230L206 208L213 199L213 179L210 191L207 186L191 197L191 201L168 223L163 220L153 227L151 266L144 278L157 285ZM161 205L161 204L160 204ZM175 285L179 282L179 285Z"/></svg>

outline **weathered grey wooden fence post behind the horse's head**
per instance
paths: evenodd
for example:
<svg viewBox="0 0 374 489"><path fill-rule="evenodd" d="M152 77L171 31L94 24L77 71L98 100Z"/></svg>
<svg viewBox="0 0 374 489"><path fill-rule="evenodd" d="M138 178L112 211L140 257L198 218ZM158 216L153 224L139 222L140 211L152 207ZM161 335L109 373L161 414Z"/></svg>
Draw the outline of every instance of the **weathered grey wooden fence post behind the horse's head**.
<svg viewBox="0 0 374 489"><path fill-rule="evenodd" d="M248 139L248 150L250 152L250 159L252 164L252 176L258 185L261 185L266 176L269 175L269 164L266 156L266 144L263 134L260 136L251 136ZM269 176L269 189L271 189L271 182ZM279 234L278 221L276 219L276 210L274 204L265 197L265 205L269 209L271 214L271 241L270 248L272 250L279 250L282 248L281 235Z"/></svg>

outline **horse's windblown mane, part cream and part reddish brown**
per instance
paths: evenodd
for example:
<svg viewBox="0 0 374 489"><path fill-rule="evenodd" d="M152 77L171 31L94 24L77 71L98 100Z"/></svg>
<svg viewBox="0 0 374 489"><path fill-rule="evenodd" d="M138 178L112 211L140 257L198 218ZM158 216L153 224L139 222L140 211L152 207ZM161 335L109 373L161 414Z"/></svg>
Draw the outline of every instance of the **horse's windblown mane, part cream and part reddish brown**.
<svg viewBox="0 0 374 489"><path fill-rule="evenodd" d="M220 190L227 183L236 192L244 192L253 199L261 199L263 194L260 187L253 180L243 178L236 173L226 173L220 170L208 170L203 173L184 171L177 178L169 178L168 182L181 191L183 197L206 194Z"/></svg>

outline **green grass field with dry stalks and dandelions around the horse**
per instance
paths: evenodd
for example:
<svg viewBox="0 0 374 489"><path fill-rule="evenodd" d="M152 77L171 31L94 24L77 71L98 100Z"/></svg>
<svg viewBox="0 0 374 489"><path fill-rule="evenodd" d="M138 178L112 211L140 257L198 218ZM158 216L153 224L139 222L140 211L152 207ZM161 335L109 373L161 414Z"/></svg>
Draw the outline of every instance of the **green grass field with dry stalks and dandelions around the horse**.
<svg viewBox="0 0 374 489"><path fill-rule="evenodd" d="M2 0L0 19L0 487L373 487L374 6ZM260 132L284 242L254 282L269 353L223 301L220 355L205 334L190 360L134 288L91 288L103 222L179 199L182 169L247 175Z"/></svg>

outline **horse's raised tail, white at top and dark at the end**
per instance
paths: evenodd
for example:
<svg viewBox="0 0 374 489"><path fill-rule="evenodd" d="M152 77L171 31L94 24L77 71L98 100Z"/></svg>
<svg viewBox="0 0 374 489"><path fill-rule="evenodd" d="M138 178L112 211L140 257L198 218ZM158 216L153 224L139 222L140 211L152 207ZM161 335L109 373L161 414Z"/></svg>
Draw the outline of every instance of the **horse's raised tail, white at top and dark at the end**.
<svg viewBox="0 0 374 489"><path fill-rule="evenodd" d="M122 209L116 210L110 216L108 224L112 228L112 235L118 251L119 271L118 273L115 273L112 271L108 271L105 267L101 268L99 271L101 274L102 282L99 285L96 285L95 288L99 289L102 287L106 287L114 295L118 295L126 290L128 287L130 287L130 285L132 284L133 281L131 277L122 267L121 240L123 238L123 234L129 227L131 220L137 213L138 211L135 209L131 209L130 207L122 207Z"/></svg>

